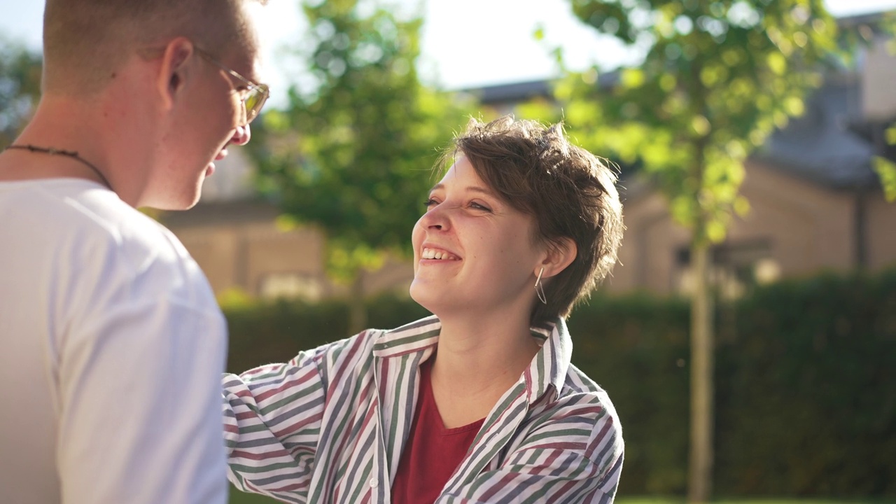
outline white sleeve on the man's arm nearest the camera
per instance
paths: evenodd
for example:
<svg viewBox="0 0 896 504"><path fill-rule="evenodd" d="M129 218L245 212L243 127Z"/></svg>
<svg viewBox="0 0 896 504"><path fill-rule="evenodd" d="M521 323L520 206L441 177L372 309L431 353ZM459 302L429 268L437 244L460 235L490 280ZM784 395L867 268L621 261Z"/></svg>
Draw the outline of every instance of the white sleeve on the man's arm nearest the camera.
<svg viewBox="0 0 896 504"><path fill-rule="evenodd" d="M62 501L223 504L220 310L120 290L100 301L62 342Z"/></svg>

